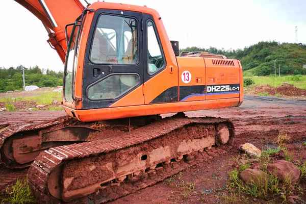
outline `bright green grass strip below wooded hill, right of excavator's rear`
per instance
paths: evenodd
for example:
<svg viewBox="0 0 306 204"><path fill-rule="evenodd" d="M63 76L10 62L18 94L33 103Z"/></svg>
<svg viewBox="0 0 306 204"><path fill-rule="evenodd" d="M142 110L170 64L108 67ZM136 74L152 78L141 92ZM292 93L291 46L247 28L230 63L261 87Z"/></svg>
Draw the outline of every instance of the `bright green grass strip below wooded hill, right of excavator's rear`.
<svg viewBox="0 0 306 204"><path fill-rule="evenodd" d="M294 85L297 88L306 89L306 75L286 75L283 77L274 77L274 75L270 75L267 77L258 77L248 73L247 71L245 71L243 75L244 77L251 78L254 81L254 84L250 87L259 85L270 85L272 87L278 87L283 83L288 83Z"/></svg>

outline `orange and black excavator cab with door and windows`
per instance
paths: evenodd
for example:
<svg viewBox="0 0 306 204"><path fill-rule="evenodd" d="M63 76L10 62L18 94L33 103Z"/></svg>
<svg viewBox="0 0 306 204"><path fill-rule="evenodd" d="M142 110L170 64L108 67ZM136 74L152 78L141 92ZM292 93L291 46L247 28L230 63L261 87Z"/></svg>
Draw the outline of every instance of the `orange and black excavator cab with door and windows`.
<svg viewBox="0 0 306 204"><path fill-rule="evenodd" d="M154 99L145 97L144 83L167 68L167 54L174 56L168 39L164 41L170 49L163 49L164 32L159 33L161 25L156 21L161 23L159 14L146 7L94 3L83 11L71 29L65 60L63 98L70 116L87 121L92 120L89 115L112 119L141 114L135 110L131 114L128 107ZM175 56L168 63L176 64ZM174 74L167 73L162 79L167 78L171 87L177 86L173 68ZM156 88L150 89L154 92ZM175 89L172 101L177 99ZM110 108L116 107L124 110L114 114Z"/></svg>

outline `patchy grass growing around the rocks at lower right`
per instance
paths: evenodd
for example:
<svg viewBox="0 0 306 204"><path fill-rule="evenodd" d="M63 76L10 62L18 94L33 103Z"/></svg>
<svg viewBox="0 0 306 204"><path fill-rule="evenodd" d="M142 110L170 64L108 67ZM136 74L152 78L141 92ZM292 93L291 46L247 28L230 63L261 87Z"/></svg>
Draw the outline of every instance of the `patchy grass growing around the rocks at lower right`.
<svg viewBox="0 0 306 204"><path fill-rule="evenodd" d="M292 185L289 179L280 182L277 177L267 171L267 165L271 163L272 160L270 156L277 154L279 151L284 152L287 161L292 160L287 148L284 146L285 143L290 142L288 135L280 133L277 137L277 141L279 141L279 144L281 145L277 148L268 148L263 150L262 155L258 160L260 169L269 175L268 180L262 180L263 182L250 184L244 183L240 179L239 175L242 171L249 168L250 164L249 162L239 164L239 167L228 173L227 188L229 195L223 196L224 203L236 203L240 200L239 198L244 195L250 196L252 199L259 198L266 201L272 201L273 198L273 200L275 199L275 203L287 203L288 198L292 195L294 189L300 188L299 186ZM299 169L301 170L301 178L306 179L306 162L303 165L300 165ZM282 200L282 202L277 201L277 199ZM274 203L274 201L271 203Z"/></svg>

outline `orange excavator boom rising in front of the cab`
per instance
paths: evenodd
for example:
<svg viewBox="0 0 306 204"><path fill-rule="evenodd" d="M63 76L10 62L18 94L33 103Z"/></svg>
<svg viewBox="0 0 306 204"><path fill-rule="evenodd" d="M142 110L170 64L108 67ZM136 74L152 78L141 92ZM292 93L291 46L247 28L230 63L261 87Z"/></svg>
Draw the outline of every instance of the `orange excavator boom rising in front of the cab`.
<svg viewBox="0 0 306 204"><path fill-rule="evenodd" d="M41 20L48 32L47 42L65 62L67 45L65 27L82 14L85 7L79 0L15 0ZM68 31L71 31L70 29ZM68 36L70 32L67 32Z"/></svg>

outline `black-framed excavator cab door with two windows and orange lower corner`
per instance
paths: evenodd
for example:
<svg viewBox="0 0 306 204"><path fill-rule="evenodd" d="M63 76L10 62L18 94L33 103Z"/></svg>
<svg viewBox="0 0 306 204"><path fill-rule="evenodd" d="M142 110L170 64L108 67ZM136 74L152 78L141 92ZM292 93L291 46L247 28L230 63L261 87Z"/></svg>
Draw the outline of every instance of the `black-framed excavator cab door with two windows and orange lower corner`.
<svg viewBox="0 0 306 204"><path fill-rule="evenodd" d="M138 12L95 12L83 68L83 109L144 104L141 20ZM132 100L116 105L129 94Z"/></svg>

